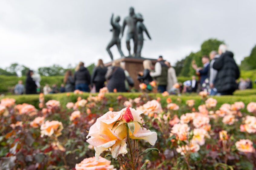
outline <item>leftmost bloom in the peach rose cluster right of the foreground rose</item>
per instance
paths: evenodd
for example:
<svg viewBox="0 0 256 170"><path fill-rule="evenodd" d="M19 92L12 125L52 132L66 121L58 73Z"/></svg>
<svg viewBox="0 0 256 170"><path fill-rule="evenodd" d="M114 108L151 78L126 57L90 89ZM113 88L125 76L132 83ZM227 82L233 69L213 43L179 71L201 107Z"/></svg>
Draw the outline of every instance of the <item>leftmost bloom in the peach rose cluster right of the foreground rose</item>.
<svg viewBox="0 0 256 170"><path fill-rule="evenodd" d="M179 140L186 140L189 134L189 125L188 124L174 124L171 130L172 134L176 134Z"/></svg>

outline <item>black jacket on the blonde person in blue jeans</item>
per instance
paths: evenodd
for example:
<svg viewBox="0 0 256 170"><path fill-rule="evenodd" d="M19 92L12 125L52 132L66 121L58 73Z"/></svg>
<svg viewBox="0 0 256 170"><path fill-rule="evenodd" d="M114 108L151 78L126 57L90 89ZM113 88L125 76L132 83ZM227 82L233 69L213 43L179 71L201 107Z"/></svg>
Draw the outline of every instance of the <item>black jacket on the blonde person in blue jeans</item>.
<svg viewBox="0 0 256 170"><path fill-rule="evenodd" d="M78 71L75 72L75 84L90 84L91 76L87 68L81 66Z"/></svg>

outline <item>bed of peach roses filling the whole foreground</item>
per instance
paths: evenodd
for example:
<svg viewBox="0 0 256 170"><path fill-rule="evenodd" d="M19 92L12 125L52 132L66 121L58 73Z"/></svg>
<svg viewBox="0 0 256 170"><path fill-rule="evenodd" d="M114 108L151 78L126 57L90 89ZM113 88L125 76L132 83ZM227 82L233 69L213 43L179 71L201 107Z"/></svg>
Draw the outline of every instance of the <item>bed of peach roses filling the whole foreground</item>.
<svg viewBox="0 0 256 170"><path fill-rule="evenodd" d="M255 99L106 89L2 99L0 169L256 168Z"/></svg>

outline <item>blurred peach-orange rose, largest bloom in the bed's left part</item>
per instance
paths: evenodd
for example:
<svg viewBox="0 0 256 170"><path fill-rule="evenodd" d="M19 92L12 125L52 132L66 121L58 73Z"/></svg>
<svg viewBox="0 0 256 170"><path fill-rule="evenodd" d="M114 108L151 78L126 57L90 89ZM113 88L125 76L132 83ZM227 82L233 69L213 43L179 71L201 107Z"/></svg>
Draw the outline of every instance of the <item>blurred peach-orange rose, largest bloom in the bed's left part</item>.
<svg viewBox="0 0 256 170"><path fill-rule="evenodd" d="M55 135L56 137L61 135L61 131L63 129L63 125L59 121L46 121L41 125L41 137L44 135L51 136Z"/></svg>

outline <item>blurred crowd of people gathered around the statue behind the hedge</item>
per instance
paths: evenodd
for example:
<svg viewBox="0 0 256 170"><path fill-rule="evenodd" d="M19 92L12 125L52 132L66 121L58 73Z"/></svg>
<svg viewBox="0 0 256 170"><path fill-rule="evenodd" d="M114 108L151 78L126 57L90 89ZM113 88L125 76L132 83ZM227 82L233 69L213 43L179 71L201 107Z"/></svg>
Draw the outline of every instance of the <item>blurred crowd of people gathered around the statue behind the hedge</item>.
<svg viewBox="0 0 256 170"><path fill-rule="evenodd" d="M155 66L151 60L143 61L143 71L138 72L137 80L146 84L148 91L152 90L151 83L153 80L157 82L157 90L160 93L165 91L175 93L199 92L206 91L210 95L232 95L237 89L252 88L252 82L249 78L246 80L240 78L240 71L236 64L233 53L228 51L227 46L221 44L218 52L212 51L209 56L202 56L203 67L198 67L195 61L192 61L192 68L198 76L192 76L191 80L184 83L178 83L175 69L172 68L170 62L165 61L159 56ZM33 71L28 71L25 88L20 80L15 86L15 94L35 94L37 87L40 87L40 78L34 76ZM44 94L64 93L80 90L84 92L99 92L103 87L107 87L110 92L128 92L133 87L134 80L130 77L129 72L125 69L125 63L113 61L112 66L106 67L101 59L98 60L92 75L80 62L75 68L75 72L67 70L64 75L64 81L61 87L56 84L50 87L46 84L43 88Z"/></svg>

